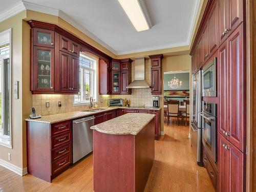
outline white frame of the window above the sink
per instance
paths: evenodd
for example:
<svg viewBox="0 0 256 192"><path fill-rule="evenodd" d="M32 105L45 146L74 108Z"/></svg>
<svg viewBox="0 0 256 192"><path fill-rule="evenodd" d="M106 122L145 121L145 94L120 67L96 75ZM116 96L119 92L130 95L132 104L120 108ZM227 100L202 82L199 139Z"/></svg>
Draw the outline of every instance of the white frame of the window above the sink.
<svg viewBox="0 0 256 192"><path fill-rule="evenodd" d="M81 55L82 55L82 57L85 57L89 60L93 60L94 62L96 62L96 69L90 69L90 68L87 68L87 67L82 67L82 68L83 68L83 70L86 69L88 71L95 72L96 78L93 79L93 80L96 81L96 82L94 82L93 84L95 84L96 88L95 88L95 97L93 98L94 99L93 103L97 103L98 102L98 92L99 92L99 73L98 73L99 58L94 57L94 56L92 56L90 54L87 54L87 53L84 53L84 52L80 52L79 57L81 57ZM80 73L80 59L79 59L79 73ZM82 75L84 75L84 74L82 74ZM82 77L79 77L79 78L82 78L81 79L81 82L82 82L84 77L82 76ZM80 83L79 83L79 86L80 86ZM79 90L80 90L80 87L79 87ZM75 95L73 95L73 106L89 105L89 104L90 104L90 101L88 101L88 102L75 102Z"/></svg>

